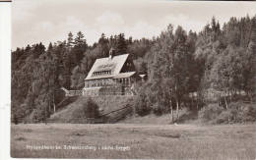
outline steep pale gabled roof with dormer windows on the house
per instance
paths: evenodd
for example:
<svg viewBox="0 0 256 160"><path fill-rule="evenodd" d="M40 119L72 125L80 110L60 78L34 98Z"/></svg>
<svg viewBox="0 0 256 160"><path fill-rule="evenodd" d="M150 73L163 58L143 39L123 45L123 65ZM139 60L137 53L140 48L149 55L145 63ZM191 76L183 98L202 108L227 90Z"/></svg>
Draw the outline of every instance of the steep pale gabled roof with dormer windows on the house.
<svg viewBox="0 0 256 160"><path fill-rule="evenodd" d="M106 57L96 59L96 62L93 65L91 71L89 72L86 80L105 79L117 76L121 72L121 69L126 62L128 56L129 54L122 54L114 56L112 58ZM111 71L111 75L100 75L96 77L93 76L93 73L102 71Z"/></svg>

